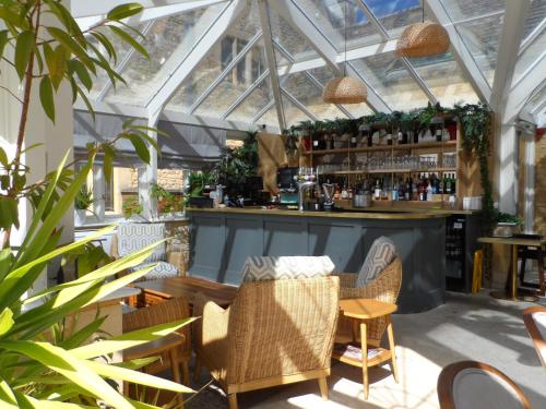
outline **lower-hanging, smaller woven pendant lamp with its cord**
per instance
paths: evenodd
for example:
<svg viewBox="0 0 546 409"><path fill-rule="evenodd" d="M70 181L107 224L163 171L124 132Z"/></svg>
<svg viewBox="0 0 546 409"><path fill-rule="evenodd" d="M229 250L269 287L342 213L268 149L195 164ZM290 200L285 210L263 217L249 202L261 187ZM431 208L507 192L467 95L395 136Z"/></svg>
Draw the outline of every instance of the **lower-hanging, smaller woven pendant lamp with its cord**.
<svg viewBox="0 0 546 409"><path fill-rule="evenodd" d="M345 0L345 62L343 76L330 80L322 92L322 100L327 104L361 104L366 101L368 91L361 81L347 75L347 0Z"/></svg>

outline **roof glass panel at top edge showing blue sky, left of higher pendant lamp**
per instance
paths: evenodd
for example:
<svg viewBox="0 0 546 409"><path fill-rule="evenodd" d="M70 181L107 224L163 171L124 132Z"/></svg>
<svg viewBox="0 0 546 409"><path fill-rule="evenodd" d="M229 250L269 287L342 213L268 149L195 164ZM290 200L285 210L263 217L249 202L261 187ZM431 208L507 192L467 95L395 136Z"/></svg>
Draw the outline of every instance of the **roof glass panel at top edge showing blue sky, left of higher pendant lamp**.
<svg viewBox="0 0 546 409"><path fill-rule="evenodd" d="M339 51L345 48L345 1L344 0L299 0L309 19L324 33ZM347 0L347 48L357 48L381 41L376 27L356 1Z"/></svg>

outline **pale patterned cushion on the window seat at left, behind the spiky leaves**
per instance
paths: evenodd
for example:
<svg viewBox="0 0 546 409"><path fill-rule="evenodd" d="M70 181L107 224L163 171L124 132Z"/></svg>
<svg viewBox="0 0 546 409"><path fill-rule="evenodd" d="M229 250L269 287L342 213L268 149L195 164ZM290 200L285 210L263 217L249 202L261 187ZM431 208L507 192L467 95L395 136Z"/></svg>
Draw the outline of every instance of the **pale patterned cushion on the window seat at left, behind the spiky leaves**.
<svg viewBox="0 0 546 409"><path fill-rule="evenodd" d="M126 256L147 245L165 239L165 224L162 222L123 222L119 225L118 252ZM163 262L167 260L165 242L155 246L146 263Z"/></svg>

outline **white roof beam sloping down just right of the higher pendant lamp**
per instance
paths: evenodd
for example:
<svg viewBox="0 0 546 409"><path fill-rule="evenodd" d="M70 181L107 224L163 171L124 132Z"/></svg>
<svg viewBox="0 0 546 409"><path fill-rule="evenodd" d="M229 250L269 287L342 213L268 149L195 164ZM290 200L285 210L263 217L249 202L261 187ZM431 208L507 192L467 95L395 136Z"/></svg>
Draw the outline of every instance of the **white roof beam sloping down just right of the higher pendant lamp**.
<svg viewBox="0 0 546 409"><path fill-rule="evenodd" d="M453 56L459 63L459 67L463 71L464 76L471 83L474 92L478 98L488 104L491 98L491 87L487 82L486 77L482 73L476 61L472 57L468 48L464 44L461 35L453 25L448 12L443 8L440 0L424 0L425 7L427 7L427 14L432 17L437 23L441 24L449 34L451 41L451 50Z"/></svg>

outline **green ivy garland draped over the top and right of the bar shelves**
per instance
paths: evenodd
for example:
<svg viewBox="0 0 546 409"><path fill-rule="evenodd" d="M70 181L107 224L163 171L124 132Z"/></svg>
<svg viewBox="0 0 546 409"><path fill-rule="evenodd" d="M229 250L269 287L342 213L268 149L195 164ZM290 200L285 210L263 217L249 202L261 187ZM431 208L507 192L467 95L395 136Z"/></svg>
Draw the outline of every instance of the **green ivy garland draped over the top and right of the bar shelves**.
<svg viewBox="0 0 546 409"><path fill-rule="evenodd" d="M491 129L491 110L484 104L455 105L446 108L437 104L412 110L411 112L393 111L391 113L377 112L358 119L335 119L334 121L305 121L284 131L290 137L313 134L314 132L335 130L336 133L356 132L361 123L369 125L383 124L401 129L402 131L419 132L430 127L435 116L446 116L456 119L461 125L462 145L467 154L476 155L479 159L479 173L484 190L482 219L484 232L489 233L497 221L498 213L494 208L492 185L489 172Z"/></svg>

